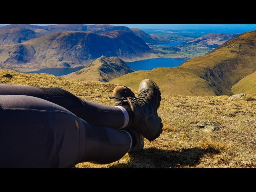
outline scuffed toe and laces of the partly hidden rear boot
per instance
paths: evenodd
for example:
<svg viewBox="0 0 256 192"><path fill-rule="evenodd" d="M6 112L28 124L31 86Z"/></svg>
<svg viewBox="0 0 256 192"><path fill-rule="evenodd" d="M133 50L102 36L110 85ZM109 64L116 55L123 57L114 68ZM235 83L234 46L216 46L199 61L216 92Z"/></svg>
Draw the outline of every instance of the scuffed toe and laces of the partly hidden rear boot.
<svg viewBox="0 0 256 192"><path fill-rule="evenodd" d="M128 105L127 102L123 102L128 97L135 97L134 92L126 86L118 85L114 88L112 97L113 106Z"/></svg>

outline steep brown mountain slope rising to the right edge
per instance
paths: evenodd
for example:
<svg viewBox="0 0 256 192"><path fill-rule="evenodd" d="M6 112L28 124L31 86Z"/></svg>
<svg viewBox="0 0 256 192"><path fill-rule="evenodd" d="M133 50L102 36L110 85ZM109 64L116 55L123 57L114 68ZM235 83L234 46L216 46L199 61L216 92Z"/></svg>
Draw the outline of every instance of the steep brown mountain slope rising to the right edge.
<svg viewBox="0 0 256 192"><path fill-rule="evenodd" d="M212 52L192 58L181 66L214 85L220 94L232 94L239 80L256 70L256 31L228 40Z"/></svg>

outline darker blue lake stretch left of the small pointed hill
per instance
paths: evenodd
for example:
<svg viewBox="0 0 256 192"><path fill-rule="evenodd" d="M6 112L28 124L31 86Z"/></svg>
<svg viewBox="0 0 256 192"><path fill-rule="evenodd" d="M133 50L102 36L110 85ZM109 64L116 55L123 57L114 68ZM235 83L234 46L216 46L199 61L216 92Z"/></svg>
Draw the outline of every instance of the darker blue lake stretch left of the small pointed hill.
<svg viewBox="0 0 256 192"><path fill-rule="evenodd" d="M76 72L80 69L84 68L84 66L79 66L79 67L64 67L64 68L46 68L46 69L40 69L38 71L32 71L32 72L27 72L27 73L47 73L55 76L62 76L62 75L67 75L72 72Z"/></svg>

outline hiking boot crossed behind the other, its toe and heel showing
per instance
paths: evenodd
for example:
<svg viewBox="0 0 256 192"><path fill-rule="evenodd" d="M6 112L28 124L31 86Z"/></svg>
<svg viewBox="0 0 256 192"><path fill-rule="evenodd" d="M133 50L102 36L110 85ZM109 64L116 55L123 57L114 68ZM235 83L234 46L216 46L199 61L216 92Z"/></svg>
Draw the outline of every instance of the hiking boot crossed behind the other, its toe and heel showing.
<svg viewBox="0 0 256 192"><path fill-rule="evenodd" d="M118 105L128 105L128 102L123 102L128 97L134 97L134 92L130 90L126 86L116 86L113 90L112 97L110 99L113 99L113 106ZM129 155L134 155L138 152L141 152L144 148L144 137L142 134L136 132L135 130L132 130L130 127L125 128L126 130L133 138L132 142L132 149L128 152Z"/></svg>

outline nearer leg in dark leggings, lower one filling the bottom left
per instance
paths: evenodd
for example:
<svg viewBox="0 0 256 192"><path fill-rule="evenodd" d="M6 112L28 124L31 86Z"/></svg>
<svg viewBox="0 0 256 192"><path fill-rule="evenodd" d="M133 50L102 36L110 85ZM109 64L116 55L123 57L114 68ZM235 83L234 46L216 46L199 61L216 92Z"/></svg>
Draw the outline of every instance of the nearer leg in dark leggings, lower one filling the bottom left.
<svg viewBox="0 0 256 192"><path fill-rule="evenodd" d="M133 133L88 124L52 102L22 95L0 96L1 167L72 167L105 164L126 154Z"/></svg>

